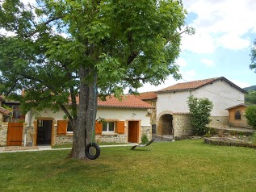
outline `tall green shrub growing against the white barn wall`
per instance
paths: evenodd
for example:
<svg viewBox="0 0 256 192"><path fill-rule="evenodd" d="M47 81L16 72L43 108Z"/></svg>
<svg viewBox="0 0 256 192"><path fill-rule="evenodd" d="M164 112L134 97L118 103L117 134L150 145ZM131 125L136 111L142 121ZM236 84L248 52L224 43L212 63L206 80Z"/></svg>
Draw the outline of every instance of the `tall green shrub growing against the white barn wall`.
<svg viewBox="0 0 256 192"><path fill-rule="evenodd" d="M188 98L188 107L191 112L191 124L195 135L203 136L205 134L206 125L211 122L209 119L213 108L212 102L208 98Z"/></svg>

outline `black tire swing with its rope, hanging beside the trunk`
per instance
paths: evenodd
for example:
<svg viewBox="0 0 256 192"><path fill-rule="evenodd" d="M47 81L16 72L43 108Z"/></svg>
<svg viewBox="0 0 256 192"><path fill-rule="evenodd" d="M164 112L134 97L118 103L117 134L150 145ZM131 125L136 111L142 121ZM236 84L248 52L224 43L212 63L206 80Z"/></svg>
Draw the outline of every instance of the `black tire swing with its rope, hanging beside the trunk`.
<svg viewBox="0 0 256 192"><path fill-rule="evenodd" d="M96 75L94 75L94 118L95 118L95 102L96 102ZM91 143L86 144L86 157L90 160L95 160L100 155L99 144L93 142L95 136L95 121L93 121L93 128L91 131Z"/></svg>

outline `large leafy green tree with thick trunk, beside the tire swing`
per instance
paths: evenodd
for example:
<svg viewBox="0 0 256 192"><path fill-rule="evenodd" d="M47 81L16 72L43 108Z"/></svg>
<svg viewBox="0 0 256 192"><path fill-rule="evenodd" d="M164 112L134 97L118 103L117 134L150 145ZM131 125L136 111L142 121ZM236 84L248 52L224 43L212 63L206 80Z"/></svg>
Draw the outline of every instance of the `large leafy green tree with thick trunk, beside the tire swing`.
<svg viewBox="0 0 256 192"><path fill-rule="evenodd" d="M65 111L73 122L71 156L83 158L97 94L181 77L181 35L194 32L185 27L186 14L178 0L6 0L0 27L14 35L0 35L1 92L18 96L25 109Z"/></svg>

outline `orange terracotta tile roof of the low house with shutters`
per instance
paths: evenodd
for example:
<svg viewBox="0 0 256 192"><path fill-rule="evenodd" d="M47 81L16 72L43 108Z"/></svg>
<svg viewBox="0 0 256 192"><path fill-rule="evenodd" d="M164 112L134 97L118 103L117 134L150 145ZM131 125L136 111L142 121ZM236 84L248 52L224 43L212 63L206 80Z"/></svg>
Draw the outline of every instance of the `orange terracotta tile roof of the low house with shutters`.
<svg viewBox="0 0 256 192"><path fill-rule="evenodd" d="M98 106L144 109L153 108L149 103L142 101L132 94L124 95L121 101L114 96L108 96L106 99L107 101L98 100Z"/></svg>

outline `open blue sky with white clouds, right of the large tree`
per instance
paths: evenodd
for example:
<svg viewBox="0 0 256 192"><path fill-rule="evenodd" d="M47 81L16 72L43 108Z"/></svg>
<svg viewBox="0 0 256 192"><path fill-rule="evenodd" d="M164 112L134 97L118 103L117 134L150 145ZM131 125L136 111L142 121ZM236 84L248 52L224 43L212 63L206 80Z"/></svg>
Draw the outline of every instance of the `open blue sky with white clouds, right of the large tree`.
<svg viewBox="0 0 256 192"><path fill-rule="evenodd" d="M195 35L183 35L176 63L183 80L169 77L161 86L145 85L140 92L160 90L178 82L226 77L241 88L256 85L249 69L256 39L255 0L183 0L187 25Z"/></svg>

